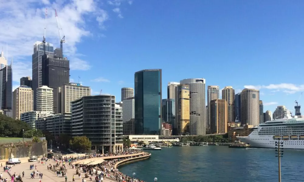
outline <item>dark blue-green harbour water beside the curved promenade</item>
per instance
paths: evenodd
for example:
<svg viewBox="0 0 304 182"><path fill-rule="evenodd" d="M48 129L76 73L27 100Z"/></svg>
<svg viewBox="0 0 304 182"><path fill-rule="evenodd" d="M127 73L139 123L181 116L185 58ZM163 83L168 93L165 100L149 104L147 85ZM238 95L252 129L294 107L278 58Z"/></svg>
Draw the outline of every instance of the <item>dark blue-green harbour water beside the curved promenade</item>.
<svg viewBox="0 0 304 182"><path fill-rule="evenodd" d="M150 159L119 167L123 174L153 182L277 182L275 149L227 146L163 147ZM302 182L304 150L285 150L282 182Z"/></svg>

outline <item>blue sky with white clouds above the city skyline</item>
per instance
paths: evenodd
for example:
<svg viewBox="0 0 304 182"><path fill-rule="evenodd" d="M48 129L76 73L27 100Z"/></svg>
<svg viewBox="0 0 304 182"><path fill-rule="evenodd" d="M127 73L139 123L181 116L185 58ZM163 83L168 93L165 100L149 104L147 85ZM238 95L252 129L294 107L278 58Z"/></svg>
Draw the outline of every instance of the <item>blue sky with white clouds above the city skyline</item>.
<svg viewBox="0 0 304 182"><path fill-rule="evenodd" d="M14 86L31 76L33 43L42 40L48 8L47 42L59 46L54 9L66 36L71 81L93 94L120 100L134 87L134 72L162 69L166 85L205 78L206 85L257 88L264 111L285 105L304 91L303 1L11 0L0 5L0 45L14 56ZM6 31L8 30L8 31ZM302 103L303 99L300 99ZM303 100L304 102L304 100Z"/></svg>

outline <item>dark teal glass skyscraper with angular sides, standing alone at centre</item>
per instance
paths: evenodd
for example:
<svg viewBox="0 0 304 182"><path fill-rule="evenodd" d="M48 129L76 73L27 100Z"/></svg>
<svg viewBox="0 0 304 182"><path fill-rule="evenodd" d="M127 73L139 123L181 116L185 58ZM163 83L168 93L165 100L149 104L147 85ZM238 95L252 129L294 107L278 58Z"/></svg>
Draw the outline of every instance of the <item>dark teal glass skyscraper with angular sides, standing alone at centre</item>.
<svg viewBox="0 0 304 182"><path fill-rule="evenodd" d="M161 135L161 69L135 72L135 134Z"/></svg>

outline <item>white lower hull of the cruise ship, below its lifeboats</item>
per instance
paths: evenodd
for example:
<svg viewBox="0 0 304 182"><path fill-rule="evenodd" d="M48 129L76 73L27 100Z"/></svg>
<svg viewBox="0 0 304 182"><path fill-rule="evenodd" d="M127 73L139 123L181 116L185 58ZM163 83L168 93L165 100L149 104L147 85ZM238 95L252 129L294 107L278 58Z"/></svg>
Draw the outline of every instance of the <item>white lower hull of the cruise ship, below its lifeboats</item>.
<svg viewBox="0 0 304 182"><path fill-rule="evenodd" d="M271 135L264 136L237 136L244 143L256 148L275 148L274 137ZM304 140L281 140L284 149L304 149Z"/></svg>

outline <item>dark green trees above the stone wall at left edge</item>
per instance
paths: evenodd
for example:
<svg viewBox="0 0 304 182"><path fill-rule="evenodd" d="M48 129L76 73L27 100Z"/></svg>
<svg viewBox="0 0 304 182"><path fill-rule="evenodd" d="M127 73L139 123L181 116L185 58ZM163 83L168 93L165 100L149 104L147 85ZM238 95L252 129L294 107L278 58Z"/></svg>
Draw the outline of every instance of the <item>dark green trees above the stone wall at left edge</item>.
<svg viewBox="0 0 304 182"><path fill-rule="evenodd" d="M29 124L20 121L14 120L11 117L0 114L0 137L20 137L27 130L31 130Z"/></svg>

